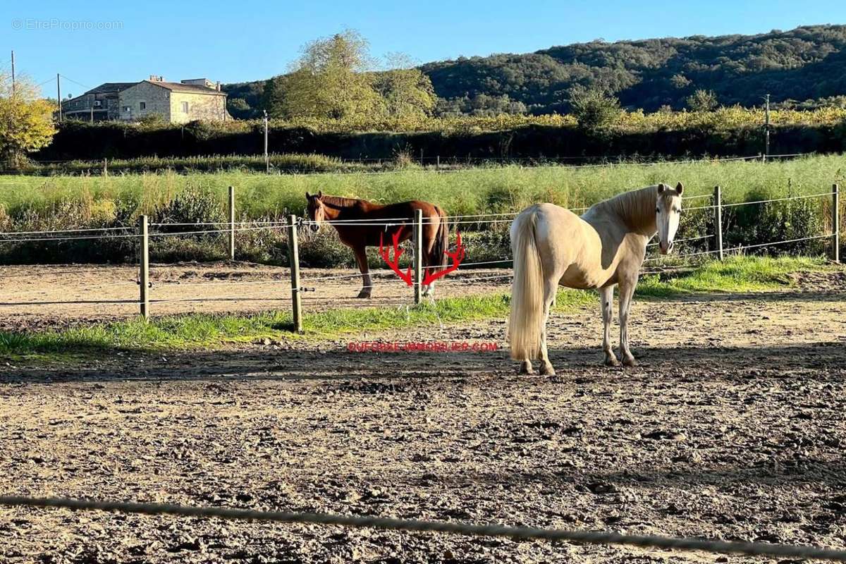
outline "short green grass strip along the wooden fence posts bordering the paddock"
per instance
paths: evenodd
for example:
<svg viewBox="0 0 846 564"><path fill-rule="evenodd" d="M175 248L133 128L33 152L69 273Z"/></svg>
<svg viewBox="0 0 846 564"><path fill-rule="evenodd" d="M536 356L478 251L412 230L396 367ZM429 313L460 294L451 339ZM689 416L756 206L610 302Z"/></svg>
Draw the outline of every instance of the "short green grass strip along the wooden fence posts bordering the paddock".
<svg viewBox="0 0 846 564"><path fill-rule="evenodd" d="M772 290L794 285L791 274L832 271L823 259L729 257L664 277L643 277L640 298L673 298L689 293L728 293ZM116 321L62 331L0 332L0 355L14 358L60 357L108 350L186 350L219 348L235 342L272 339L326 339L361 331L406 329L473 320L504 318L510 297L505 293L445 298L434 304L400 308L332 309L304 320L305 336L291 332L288 312L255 315L173 315L153 319ZM556 310L597 304L596 293L561 289Z"/></svg>

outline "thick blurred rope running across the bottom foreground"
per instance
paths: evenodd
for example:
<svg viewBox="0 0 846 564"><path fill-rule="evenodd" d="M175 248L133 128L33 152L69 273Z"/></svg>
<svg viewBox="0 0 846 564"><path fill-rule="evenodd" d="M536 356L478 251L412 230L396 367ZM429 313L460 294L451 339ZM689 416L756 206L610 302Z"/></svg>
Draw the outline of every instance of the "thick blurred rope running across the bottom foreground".
<svg viewBox="0 0 846 564"><path fill-rule="evenodd" d="M328 513L261 512L225 507L190 507L159 503L121 501L74 500L62 498L32 498L0 496L0 505L14 507L61 507L144 515L179 515L182 517L217 517L244 521L272 521L276 523L313 523L343 527L383 528L420 533L448 533L470 536L495 536L521 540L549 540L587 543L593 545L630 545L674 550L704 550L722 554L747 556L792 556L846 562L846 550L832 550L814 546L772 545L755 542L728 542L705 539L673 539L662 536L605 533L596 531L506 527L503 525L470 525L440 521L419 521L392 517L354 517Z"/></svg>

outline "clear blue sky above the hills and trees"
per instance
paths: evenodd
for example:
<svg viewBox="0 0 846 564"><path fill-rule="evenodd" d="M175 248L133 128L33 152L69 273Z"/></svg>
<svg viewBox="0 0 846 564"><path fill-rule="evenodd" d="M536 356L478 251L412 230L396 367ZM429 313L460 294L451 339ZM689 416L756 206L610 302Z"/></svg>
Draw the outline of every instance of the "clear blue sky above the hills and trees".
<svg viewBox="0 0 846 564"><path fill-rule="evenodd" d="M169 80L265 79L284 72L306 41L344 28L359 30L375 56L404 52L426 62L600 37L746 34L824 23L846 23L846 2L3 0L0 68L8 71L14 49L18 72L46 81L45 95L55 96L57 72L67 77L64 97L81 94L85 86L150 74ZM112 29L99 29L104 27Z"/></svg>

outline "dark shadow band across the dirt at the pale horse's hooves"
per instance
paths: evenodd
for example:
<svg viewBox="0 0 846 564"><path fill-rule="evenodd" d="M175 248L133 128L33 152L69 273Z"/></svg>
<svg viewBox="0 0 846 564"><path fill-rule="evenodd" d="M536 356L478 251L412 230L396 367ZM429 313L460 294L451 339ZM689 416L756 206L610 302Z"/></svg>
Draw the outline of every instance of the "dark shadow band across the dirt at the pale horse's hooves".
<svg viewBox="0 0 846 564"><path fill-rule="evenodd" d="M563 384L577 378L663 379L690 377L734 379L755 375L821 371L842 379L846 343L816 342L778 346L690 346L634 348L634 368L602 366L598 347L552 348L552 364ZM204 381L227 380L358 380L508 377L519 363L508 349L492 352L354 352L345 346L323 350L194 351L169 355L124 353L127 360L52 368L7 366L2 381ZM112 355L113 356L113 355ZM135 359L135 360L132 360ZM684 375L686 374L686 376ZM545 378L545 376L530 376ZM787 376L784 376L787 377Z"/></svg>

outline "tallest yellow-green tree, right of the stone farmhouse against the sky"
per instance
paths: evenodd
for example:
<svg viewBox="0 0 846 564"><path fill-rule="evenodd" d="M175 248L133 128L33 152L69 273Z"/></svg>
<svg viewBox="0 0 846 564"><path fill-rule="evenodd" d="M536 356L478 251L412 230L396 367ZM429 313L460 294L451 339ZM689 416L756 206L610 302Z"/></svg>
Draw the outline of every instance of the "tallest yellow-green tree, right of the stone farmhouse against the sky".
<svg viewBox="0 0 846 564"><path fill-rule="evenodd" d="M283 118L349 119L381 109L372 85L367 41L346 30L312 41L290 74L273 79L271 113Z"/></svg>

